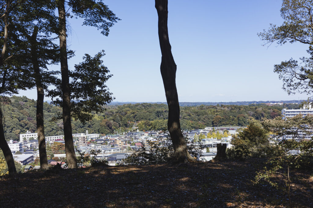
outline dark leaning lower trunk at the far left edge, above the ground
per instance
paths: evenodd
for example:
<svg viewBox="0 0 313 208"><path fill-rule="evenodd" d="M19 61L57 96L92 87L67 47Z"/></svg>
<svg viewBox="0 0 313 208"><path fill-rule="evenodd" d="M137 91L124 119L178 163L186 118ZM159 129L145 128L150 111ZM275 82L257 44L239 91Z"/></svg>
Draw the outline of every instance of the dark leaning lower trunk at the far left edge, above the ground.
<svg viewBox="0 0 313 208"><path fill-rule="evenodd" d="M3 114L1 108L0 108L0 148L2 149L5 160L7 161L9 174L11 175L16 173L13 155L4 136Z"/></svg>

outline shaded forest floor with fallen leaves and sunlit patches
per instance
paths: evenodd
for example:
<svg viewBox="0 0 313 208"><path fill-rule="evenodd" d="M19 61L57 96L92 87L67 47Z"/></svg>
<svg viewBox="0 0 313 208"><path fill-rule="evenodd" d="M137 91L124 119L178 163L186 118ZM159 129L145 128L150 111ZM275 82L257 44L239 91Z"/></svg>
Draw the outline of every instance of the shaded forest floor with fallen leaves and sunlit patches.
<svg viewBox="0 0 313 208"><path fill-rule="evenodd" d="M285 190L253 185L262 167L250 160L29 171L0 179L0 206L288 207ZM294 206L313 207L312 171L292 178Z"/></svg>

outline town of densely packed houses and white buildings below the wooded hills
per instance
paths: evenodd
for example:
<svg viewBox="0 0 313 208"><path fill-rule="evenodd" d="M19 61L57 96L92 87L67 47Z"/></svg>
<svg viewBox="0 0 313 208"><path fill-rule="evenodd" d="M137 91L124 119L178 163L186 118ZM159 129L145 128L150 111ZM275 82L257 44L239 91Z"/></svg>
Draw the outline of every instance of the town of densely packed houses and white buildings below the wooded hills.
<svg viewBox="0 0 313 208"><path fill-rule="evenodd" d="M206 127L204 129L197 129L192 131L183 131L183 135L187 138L187 141L193 142L197 148L201 149L202 154L197 156L198 160L209 161L212 160L217 152L217 144L226 144L227 148L232 145L230 141L232 135L236 134L239 127ZM214 131L214 132L213 132ZM225 134L226 132L226 134ZM216 136L219 135L219 136ZM227 136L225 136L227 135ZM213 138L214 137L214 138ZM163 141L169 138L168 131L137 131L127 132L123 134L103 135L100 133L89 134L85 133L73 134L73 142L76 148L76 156L79 156L79 152L89 154L90 151L95 150L98 159L104 159L108 161L108 165L115 166L121 164L123 159L126 159L134 151L141 148L145 148L147 152L150 150L151 143L162 145ZM52 145L54 143L64 144L64 136L56 135L46 137L46 145ZM20 134L20 141L10 140L8 145L13 153L14 160L19 162L27 170L40 169L40 166L29 166L39 159L38 140L37 133L27 131ZM47 155L53 155L54 158L65 158L65 150L47 150ZM62 167L66 167L66 162L48 160L49 164L54 166L60 164Z"/></svg>

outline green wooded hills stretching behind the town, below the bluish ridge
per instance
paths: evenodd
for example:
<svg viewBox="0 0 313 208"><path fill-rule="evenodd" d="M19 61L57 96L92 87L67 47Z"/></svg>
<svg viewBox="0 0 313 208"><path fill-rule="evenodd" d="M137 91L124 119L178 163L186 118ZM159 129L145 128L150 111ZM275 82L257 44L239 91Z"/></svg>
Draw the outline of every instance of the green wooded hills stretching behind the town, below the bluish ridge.
<svg viewBox="0 0 313 208"><path fill-rule="evenodd" d="M5 133L7 139L19 139L19 133L27 130L36 131L36 101L27 97L13 96L11 102L3 105L5 116ZM79 121L72 122L73 133L88 130L89 133L114 133L131 129L136 121L139 130L161 130L167 126L168 108L166 104L123 104L105 106L106 111L96 114L95 117L82 125ZM267 106L265 104L250 105L199 105L182 106L182 129L198 129L206 126L245 126L249 117L255 119L274 118L281 114L282 108L298 108L297 104L284 104L281 106ZM62 135L63 121L51 121L58 112L59 107L44 103L45 135Z"/></svg>

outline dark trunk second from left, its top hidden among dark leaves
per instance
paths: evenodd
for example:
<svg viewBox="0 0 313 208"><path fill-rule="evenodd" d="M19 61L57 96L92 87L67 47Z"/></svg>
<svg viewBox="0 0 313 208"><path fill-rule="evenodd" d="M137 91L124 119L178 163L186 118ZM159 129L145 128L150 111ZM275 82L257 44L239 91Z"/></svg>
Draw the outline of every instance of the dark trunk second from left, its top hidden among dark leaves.
<svg viewBox="0 0 313 208"><path fill-rule="evenodd" d="M39 158L40 169L48 169L48 159L46 152L46 140L44 138L44 88L42 85L42 75L38 64L38 51L37 51L37 34L38 27L34 27L33 35L30 38L31 43L31 59L34 68L34 77L37 87L37 109L36 109L36 123L38 133L39 145Z"/></svg>

